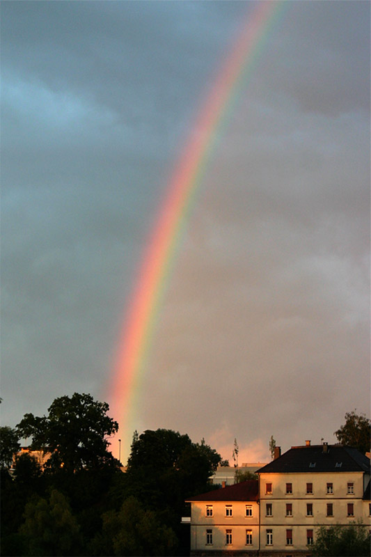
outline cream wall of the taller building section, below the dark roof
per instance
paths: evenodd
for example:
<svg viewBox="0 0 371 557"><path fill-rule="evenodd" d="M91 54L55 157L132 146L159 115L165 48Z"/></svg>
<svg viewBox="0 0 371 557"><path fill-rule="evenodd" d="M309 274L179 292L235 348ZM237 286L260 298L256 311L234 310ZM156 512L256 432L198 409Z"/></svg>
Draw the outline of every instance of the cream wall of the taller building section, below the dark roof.
<svg viewBox="0 0 371 557"><path fill-rule="evenodd" d="M307 493L307 483L312 484L312 493ZM267 492L269 484L270 493L269 489ZM286 484L292 484L292 493L286 492ZM348 488L348 484L352 486ZM312 530L315 536L315 529L320 524L349 524L356 519L369 524L369 505L362 501L362 497L362 472L261 473L261 549L286 551L287 554L291 549L305 551L308 531ZM353 505L352 516L348 516L348 503ZM312 507L308 509L308 505ZM332 505L331 516L328 505ZM267 538L267 531L271 531L271 539ZM287 531L291 531L289 540Z"/></svg>

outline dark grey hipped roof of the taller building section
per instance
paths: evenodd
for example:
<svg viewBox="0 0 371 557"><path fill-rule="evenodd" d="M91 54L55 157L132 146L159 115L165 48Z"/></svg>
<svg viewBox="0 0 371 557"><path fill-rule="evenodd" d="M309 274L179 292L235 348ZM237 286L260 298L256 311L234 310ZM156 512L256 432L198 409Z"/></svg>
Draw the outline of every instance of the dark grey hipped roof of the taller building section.
<svg viewBox="0 0 371 557"><path fill-rule="evenodd" d="M262 472L369 472L370 459L356 448L341 445L292 447L262 466Z"/></svg>

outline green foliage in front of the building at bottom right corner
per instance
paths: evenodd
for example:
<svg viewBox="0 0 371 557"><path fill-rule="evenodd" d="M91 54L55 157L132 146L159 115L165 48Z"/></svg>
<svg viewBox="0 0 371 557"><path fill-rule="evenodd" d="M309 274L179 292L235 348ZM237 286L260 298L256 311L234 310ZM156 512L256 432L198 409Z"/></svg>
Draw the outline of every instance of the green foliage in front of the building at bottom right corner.
<svg viewBox="0 0 371 557"><path fill-rule="evenodd" d="M368 557L370 555L370 532L362 522L347 526L319 526L315 543L308 546L313 556Z"/></svg>

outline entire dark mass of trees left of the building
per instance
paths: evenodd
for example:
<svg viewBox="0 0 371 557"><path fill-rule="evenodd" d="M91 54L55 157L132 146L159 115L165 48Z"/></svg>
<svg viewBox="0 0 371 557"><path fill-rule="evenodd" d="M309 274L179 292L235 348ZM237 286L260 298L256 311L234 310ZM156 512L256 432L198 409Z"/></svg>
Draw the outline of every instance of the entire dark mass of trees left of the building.
<svg viewBox="0 0 371 557"><path fill-rule="evenodd" d="M134 434L127 472L109 452L108 405L74 393L1 427L2 556L189 555L184 499L211 489L221 457L172 430ZM51 454L44 469L19 439Z"/></svg>

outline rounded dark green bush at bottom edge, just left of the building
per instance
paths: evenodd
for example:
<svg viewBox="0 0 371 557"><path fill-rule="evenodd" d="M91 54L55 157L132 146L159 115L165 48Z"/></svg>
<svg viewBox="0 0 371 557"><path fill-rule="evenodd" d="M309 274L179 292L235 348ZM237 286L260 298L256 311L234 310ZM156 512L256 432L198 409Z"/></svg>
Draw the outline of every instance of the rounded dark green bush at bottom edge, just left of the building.
<svg viewBox="0 0 371 557"><path fill-rule="evenodd" d="M175 533L152 510L144 510L135 497L124 501L118 512L103 515L102 534L91 544L94 555L161 556L173 555Z"/></svg>

